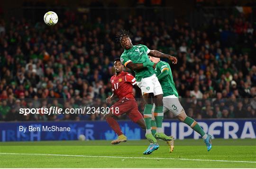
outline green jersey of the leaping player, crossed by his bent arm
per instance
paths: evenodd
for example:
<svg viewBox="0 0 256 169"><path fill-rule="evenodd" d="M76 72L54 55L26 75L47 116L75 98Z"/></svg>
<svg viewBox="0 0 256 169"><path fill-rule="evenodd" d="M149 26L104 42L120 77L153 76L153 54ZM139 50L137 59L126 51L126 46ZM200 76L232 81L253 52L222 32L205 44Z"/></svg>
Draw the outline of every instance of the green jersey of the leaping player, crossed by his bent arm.
<svg viewBox="0 0 256 169"><path fill-rule="evenodd" d="M128 62L133 63L144 63L144 62L151 62L147 56L150 50L142 44L134 45L132 48L128 50L124 50L122 53L120 60L126 66ZM147 78L155 74L155 71L152 66L147 66L141 70L136 70L135 78L136 81L140 81L142 78Z"/></svg>

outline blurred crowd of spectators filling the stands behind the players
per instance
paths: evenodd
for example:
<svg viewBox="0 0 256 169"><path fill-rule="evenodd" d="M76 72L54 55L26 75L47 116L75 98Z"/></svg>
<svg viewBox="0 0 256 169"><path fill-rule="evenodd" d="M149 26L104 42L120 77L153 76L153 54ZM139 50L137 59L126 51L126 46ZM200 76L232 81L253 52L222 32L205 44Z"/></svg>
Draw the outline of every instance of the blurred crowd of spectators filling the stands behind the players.
<svg viewBox="0 0 256 169"><path fill-rule="evenodd" d="M245 16L216 18L200 28L176 20L168 26L142 17L91 23L86 15L69 16L54 27L0 20L0 120L103 120L97 113L18 111L110 106L105 99L112 92L113 60L123 51L115 40L120 29L133 34L133 44L177 57L178 64L170 65L188 116L256 117L256 27ZM136 98L139 92L134 89Z"/></svg>

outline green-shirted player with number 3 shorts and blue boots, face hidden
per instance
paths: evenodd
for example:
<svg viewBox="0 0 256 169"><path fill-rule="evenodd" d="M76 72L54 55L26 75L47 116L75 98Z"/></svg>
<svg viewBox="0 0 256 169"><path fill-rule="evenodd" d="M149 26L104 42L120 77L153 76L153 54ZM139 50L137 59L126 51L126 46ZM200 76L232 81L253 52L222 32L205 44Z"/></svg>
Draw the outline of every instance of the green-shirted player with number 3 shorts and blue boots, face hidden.
<svg viewBox="0 0 256 169"><path fill-rule="evenodd" d="M161 83L163 92L164 92L164 110L166 111L170 110L174 114L175 117L177 117L181 122L189 125L194 131L199 133L204 140L207 151L210 151L211 149L211 135L204 133L203 129L200 125L197 124L197 122L186 115L179 99L178 99L178 92L175 87L173 74L171 71L171 67L168 63L160 61L159 58L155 58L152 56L149 56L149 59L152 62L156 63L155 71L156 76ZM170 147L170 152L173 151L172 147Z"/></svg>

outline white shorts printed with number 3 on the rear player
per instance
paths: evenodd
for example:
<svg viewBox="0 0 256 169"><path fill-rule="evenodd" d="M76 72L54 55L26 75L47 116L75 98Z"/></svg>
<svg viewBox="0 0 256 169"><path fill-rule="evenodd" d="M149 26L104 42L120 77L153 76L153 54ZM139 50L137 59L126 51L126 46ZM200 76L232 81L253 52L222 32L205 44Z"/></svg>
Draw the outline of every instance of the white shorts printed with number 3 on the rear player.
<svg viewBox="0 0 256 169"><path fill-rule="evenodd" d="M179 98L177 98L175 95L170 95L170 96L165 96L163 98L163 112L167 112L170 110L171 113L174 114L174 116L178 116L179 114L182 113L183 107L179 101ZM155 110L155 104L153 105L152 108L152 115L154 115L154 110ZM155 120L155 117L152 116L152 119Z"/></svg>

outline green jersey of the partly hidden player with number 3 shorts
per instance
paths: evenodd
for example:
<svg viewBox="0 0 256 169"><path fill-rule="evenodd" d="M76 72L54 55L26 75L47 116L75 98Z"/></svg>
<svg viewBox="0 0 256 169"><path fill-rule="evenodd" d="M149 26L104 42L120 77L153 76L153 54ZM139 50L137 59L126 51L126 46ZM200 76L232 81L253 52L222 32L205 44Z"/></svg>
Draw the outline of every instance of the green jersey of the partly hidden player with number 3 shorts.
<svg viewBox="0 0 256 169"><path fill-rule="evenodd" d="M170 95L175 95L176 97L179 97L178 91L175 87L174 78L170 65L164 61L160 61L156 64L155 71L156 76L158 76L163 71L168 71L168 75L165 78L159 80L161 87L163 89L164 97Z"/></svg>

